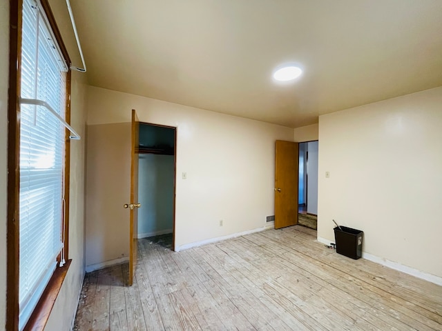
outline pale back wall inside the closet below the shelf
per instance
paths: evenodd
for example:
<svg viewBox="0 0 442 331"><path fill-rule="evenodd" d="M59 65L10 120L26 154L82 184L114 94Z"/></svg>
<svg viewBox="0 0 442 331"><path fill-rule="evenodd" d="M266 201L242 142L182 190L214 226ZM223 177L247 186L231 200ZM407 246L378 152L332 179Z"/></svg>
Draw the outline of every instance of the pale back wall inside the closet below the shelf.
<svg viewBox="0 0 442 331"><path fill-rule="evenodd" d="M172 232L174 157L140 154L138 164L139 237Z"/></svg>

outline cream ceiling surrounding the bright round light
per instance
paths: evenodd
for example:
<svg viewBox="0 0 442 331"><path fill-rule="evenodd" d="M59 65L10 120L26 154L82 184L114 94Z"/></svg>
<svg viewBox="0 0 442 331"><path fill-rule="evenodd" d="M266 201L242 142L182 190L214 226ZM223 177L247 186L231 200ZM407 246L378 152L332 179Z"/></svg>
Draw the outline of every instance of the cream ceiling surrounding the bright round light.
<svg viewBox="0 0 442 331"><path fill-rule="evenodd" d="M71 0L92 86L283 126L442 86L441 0ZM281 63L304 68L276 83ZM75 63L80 64L80 63Z"/></svg>

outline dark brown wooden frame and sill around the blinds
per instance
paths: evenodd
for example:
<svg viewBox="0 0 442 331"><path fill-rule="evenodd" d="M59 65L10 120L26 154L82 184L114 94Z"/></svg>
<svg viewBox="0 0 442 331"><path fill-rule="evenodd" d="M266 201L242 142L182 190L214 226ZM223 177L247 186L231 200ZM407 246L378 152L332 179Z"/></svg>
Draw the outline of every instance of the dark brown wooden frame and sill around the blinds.
<svg viewBox="0 0 442 331"><path fill-rule="evenodd" d="M40 0L46 12L52 32L66 65L70 68L70 58L61 39L48 0ZM23 0L10 0L10 57L9 57L9 90L8 90L8 216L7 216L7 290L6 290L6 330L19 330L19 152L20 152L20 105L21 92L21 30ZM70 123L70 78L66 72L66 122ZM69 248L69 189L70 189L70 132L65 130L64 157L64 252L66 264L57 267L41 295L35 310L23 330L44 330L50 312L57 299L61 285L66 277L71 260L68 259ZM60 229L63 231L63 229ZM58 257L58 261L60 256Z"/></svg>

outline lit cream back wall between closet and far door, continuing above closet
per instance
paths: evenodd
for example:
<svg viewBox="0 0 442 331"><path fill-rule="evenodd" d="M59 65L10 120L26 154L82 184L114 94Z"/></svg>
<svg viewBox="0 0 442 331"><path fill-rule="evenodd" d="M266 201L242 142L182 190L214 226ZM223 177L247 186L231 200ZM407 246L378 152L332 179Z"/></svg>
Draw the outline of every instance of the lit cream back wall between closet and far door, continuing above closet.
<svg viewBox="0 0 442 331"><path fill-rule="evenodd" d="M273 215L274 144L293 141L293 129L95 87L89 88L88 126L128 122L133 108L140 121L177 127L177 249L265 226Z"/></svg>

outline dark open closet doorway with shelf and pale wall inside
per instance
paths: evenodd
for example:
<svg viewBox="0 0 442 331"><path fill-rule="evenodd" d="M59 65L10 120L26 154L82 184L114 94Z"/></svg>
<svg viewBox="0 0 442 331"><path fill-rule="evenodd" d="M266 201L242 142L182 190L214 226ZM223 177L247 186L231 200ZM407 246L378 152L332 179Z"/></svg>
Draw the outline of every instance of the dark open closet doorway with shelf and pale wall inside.
<svg viewBox="0 0 442 331"><path fill-rule="evenodd" d="M140 123L138 239L174 250L176 128Z"/></svg>

